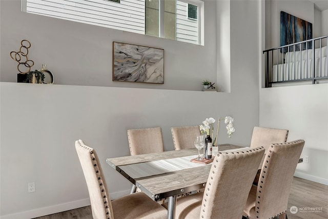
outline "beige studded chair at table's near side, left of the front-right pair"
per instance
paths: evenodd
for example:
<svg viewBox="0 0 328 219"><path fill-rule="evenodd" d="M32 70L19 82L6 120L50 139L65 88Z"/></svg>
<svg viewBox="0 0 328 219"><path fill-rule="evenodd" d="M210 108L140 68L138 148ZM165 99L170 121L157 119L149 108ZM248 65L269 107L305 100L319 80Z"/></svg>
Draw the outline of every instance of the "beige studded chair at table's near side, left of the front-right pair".
<svg viewBox="0 0 328 219"><path fill-rule="evenodd" d="M263 154L263 147L219 152L205 191L178 198L175 218L241 218Z"/></svg>

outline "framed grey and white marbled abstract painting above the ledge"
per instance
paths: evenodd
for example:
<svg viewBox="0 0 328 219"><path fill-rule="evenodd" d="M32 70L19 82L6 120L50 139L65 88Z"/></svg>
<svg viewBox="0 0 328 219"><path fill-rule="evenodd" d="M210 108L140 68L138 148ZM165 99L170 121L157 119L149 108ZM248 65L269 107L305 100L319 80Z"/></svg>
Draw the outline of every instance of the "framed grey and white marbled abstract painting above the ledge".
<svg viewBox="0 0 328 219"><path fill-rule="evenodd" d="M164 83L164 50L113 42L113 81Z"/></svg>

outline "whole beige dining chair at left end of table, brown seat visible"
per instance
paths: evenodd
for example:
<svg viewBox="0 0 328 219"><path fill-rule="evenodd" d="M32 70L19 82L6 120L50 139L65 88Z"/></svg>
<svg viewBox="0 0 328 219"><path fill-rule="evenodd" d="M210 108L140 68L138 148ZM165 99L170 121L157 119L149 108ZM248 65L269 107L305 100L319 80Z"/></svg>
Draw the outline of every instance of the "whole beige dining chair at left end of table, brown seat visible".
<svg viewBox="0 0 328 219"><path fill-rule="evenodd" d="M94 219L167 218L167 210L143 192L111 201L98 156L83 141L75 142L76 152L86 178Z"/></svg>

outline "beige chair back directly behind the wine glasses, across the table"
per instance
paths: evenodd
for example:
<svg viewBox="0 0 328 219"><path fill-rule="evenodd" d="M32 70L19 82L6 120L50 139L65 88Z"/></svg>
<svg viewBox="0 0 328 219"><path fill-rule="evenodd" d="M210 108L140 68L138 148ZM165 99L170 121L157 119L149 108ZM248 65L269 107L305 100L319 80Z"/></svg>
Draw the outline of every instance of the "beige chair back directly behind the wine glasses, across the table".
<svg viewBox="0 0 328 219"><path fill-rule="evenodd" d="M175 150L194 148L194 140L200 135L199 126L181 126L171 128Z"/></svg>

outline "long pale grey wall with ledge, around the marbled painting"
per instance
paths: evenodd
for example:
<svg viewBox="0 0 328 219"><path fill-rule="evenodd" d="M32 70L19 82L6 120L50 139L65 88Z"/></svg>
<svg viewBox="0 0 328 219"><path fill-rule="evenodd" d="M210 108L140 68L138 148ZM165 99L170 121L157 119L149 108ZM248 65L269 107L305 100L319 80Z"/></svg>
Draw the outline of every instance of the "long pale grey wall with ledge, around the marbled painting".
<svg viewBox="0 0 328 219"><path fill-rule="evenodd" d="M31 218L88 205L74 149L78 138L98 151L113 198L127 192L130 183L107 167L105 159L129 155L129 128L160 126L165 149L173 150L170 127L231 115L236 132L230 139L221 126L219 143L249 145L259 124L259 4L231 2L231 92L221 93L182 90L198 88L207 72L216 78L221 71L216 68L216 28L209 30L216 23L214 1L205 3L210 11L205 47L39 18L19 12L16 1L0 1L2 218ZM16 81L16 71L9 52L24 38L32 43L36 65L46 62L55 82L69 85L10 83ZM164 48L165 89L110 82L112 41ZM118 88L128 85L144 88ZM181 90L169 90L177 87ZM35 182L34 193L27 192L29 182Z"/></svg>

